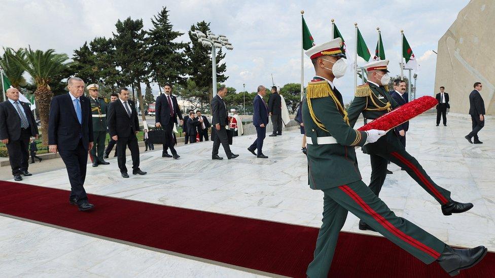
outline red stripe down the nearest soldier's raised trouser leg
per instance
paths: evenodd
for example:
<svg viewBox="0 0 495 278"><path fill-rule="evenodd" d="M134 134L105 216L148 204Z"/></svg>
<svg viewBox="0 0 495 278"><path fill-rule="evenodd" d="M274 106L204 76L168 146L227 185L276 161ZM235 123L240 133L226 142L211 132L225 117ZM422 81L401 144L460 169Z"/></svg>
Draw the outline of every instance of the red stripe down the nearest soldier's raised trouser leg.
<svg viewBox="0 0 495 278"><path fill-rule="evenodd" d="M399 237L402 241L408 243L409 245L419 249L422 252L427 253L428 255L438 259L440 257L440 253L432 249L431 247L417 241L412 236L405 234L403 231L399 230L397 227L392 225L392 223L388 222L383 216L375 212L366 202L352 189L350 189L347 185L342 185L339 187L344 191L347 195L349 195L358 205L363 208L363 210L371 215L379 224L381 224L385 229L392 232L394 235Z"/></svg>

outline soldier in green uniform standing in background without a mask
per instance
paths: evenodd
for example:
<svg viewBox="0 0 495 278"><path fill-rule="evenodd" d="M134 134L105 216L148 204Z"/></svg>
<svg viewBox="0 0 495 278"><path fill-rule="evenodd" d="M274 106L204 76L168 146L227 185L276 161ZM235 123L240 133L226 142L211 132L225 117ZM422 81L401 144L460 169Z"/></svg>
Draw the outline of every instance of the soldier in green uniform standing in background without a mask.
<svg viewBox="0 0 495 278"><path fill-rule="evenodd" d="M86 87L89 92L89 102L91 103L93 117L94 145L90 152L93 167L110 164L103 160L105 140L107 139L107 103L103 98L98 97L98 88L98 84L90 84Z"/></svg>

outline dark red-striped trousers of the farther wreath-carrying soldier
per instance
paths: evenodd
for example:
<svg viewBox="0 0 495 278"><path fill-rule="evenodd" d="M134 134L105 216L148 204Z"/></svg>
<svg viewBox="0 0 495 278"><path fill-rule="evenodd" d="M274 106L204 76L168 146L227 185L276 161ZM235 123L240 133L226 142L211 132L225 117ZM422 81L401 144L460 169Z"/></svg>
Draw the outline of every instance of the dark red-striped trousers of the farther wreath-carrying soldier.
<svg viewBox="0 0 495 278"><path fill-rule="evenodd" d="M438 186L421 167L419 162L410 155L393 131L372 144L363 147L370 155L371 179L369 187L378 196L385 182L387 161L406 169L407 174L425 189L440 205L450 202L450 191Z"/></svg>

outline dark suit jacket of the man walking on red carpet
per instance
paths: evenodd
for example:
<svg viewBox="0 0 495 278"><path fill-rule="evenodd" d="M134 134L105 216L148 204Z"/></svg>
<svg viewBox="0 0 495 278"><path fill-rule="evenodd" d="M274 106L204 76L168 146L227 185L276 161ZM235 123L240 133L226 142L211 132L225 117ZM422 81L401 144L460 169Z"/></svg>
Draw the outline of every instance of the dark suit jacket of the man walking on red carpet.
<svg viewBox="0 0 495 278"><path fill-rule="evenodd" d="M58 149L74 150L79 144L79 139L81 139L84 148L88 149L89 142L93 142L91 104L87 97L79 97L83 118L81 125L69 94L52 98L48 121L48 144L58 145Z"/></svg>

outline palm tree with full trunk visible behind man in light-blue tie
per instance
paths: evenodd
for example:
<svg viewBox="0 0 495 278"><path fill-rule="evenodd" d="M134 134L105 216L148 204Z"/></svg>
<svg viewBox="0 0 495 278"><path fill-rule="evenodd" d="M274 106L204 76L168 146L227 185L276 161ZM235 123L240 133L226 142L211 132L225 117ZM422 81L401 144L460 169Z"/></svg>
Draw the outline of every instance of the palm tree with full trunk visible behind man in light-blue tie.
<svg viewBox="0 0 495 278"><path fill-rule="evenodd" d="M55 53L53 49L44 52L41 50L33 51L29 47L23 49L22 54L24 55L19 54L11 53L7 54L7 56L29 73L33 78L34 84L36 84L34 99L40 113L41 133L44 135L42 137L43 144L48 145L48 115L50 113L50 101L53 97L48 83L53 76L65 70L70 63L67 62L68 57L66 54Z"/></svg>

